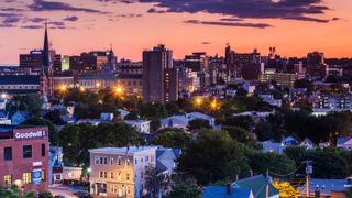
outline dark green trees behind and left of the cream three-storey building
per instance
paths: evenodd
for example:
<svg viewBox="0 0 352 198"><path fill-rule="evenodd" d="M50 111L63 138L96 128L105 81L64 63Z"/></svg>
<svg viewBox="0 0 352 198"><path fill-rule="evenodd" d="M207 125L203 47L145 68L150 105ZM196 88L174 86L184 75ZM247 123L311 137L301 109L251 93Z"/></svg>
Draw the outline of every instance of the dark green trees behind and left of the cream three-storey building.
<svg viewBox="0 0 352 198"><path fill-rule="evenodd" d="M64 160L73 165L89 163L88 150L103 146L135 145L142 140L135 129L124 122L66 124L61 131L59 145L63 146Z"/></svg>

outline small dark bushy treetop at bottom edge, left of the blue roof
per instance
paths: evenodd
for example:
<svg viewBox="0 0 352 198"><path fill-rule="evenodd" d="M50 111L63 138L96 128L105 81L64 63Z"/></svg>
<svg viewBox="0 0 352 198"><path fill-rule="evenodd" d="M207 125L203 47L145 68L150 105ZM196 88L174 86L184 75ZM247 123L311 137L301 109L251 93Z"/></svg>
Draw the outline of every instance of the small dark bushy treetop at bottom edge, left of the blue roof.
<svg viewBox="0 0 352 198"><path fill-rule="evenodd" d="M170 198L200 198L201 188L193 178L176 182Z"/></svg>

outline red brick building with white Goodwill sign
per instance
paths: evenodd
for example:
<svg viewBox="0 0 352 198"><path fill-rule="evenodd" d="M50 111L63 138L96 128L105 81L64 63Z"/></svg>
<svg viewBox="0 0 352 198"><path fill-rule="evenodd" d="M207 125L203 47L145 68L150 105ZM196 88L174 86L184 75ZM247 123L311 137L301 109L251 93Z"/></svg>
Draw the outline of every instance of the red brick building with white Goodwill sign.
<svg viewBox="0 0 352 198"><path fill-rule="evenodd" d="M48 187L47 127L0 125L0 186L23 191Z"/></svg>

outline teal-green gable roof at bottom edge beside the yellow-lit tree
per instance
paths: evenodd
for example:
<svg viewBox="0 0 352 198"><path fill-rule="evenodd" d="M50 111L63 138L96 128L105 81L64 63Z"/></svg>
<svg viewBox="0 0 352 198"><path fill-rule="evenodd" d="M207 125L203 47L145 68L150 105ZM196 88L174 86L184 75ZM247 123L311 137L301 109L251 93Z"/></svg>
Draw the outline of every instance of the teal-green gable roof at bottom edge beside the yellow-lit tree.
<svg viewBox="0 0 352 198"><path fill-rule="evenodd" d="M233 183L240 188L252 189L255 198L266 197L266 184L267 179L263 175L256 175L253 177L248 177ZM279 191L272 184L268 184L268 197L278 195Z"/></svg>

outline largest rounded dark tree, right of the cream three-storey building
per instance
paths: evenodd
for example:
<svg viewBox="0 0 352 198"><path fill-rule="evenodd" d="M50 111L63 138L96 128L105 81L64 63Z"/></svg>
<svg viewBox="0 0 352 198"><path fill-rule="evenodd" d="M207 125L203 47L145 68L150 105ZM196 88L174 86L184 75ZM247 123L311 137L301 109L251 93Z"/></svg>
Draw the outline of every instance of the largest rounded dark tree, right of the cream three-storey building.
<svg viewBox="0 0 352 198"><path fill-rule="evenodd" d="M202 130L179 157L179 170L194 176L200 184L249 173L243 146L226 131Z"/></svg>

